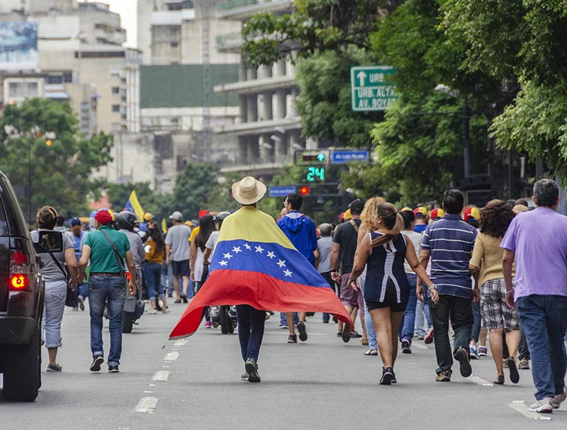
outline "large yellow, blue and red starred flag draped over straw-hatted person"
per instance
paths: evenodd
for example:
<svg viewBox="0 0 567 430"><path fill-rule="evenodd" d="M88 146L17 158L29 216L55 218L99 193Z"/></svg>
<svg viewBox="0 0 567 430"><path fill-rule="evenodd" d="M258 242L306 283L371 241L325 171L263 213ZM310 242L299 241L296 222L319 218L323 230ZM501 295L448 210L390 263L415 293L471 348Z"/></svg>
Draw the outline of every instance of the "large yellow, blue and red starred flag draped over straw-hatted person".
<svg viewBox="0 0 567 430"><path fill-rule="evenodd" d="M354 327L327 281L274 219L252 206L225 218L207 281L181 315L169 339L191 336L203 307L250 305L280 312L329 312Z"/></svg>

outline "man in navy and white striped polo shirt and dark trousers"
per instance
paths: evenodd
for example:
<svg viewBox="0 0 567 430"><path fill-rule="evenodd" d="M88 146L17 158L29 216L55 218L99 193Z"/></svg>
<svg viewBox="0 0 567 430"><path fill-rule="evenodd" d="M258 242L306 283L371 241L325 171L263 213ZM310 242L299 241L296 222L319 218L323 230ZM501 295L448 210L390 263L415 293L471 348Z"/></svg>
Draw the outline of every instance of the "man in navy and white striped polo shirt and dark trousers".
<svg viewBox="0 0 567 430"><path fill-rule="evenodd" d="M468 261L471 260L476 229L461 218L464 196L459 190L443 193L444 217L427 226L423 232L420 263L427 267L431 257L431 280L437 294L429 294L430 315L435 339L438 382L451 380L453 357L460 363L461 375L472 373L468 342L471 340L473 312L471 300L478 300L478 287L471 284ZM417 282L417 297L422 293L422 285ZM454 349L451 353L449 342L449 320L455 332Z"/></svg>

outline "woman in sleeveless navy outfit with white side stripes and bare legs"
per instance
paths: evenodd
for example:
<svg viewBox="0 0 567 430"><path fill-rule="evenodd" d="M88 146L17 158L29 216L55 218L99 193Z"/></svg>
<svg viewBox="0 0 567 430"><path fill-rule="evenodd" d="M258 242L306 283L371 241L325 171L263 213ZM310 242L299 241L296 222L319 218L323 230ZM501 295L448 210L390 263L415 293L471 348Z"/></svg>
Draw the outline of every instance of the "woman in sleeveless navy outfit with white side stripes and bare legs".
<svg viewBox="0 0 567 430"><path fill-rule="evenodd" d="M378 334L378 351L383 363L380 384L391 385L396 382L393 366L398 354L398 327L410 296L404 260L428 285L434 302L439 300L439 296L434 289L435 284L417 260L412 242L401 233L403 219L395 206L381 203L376 217L378 230L367 234L360 242L349 285L358 288L357 278L366 265L364 301Z"/></svg>

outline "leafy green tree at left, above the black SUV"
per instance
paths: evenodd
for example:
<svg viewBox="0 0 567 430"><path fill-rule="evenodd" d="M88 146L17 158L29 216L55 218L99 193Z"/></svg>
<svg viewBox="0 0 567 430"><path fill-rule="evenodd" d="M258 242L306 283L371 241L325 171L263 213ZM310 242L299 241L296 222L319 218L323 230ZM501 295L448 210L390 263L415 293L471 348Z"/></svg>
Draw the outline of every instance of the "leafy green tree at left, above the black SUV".
<svg viewBox="0 0 567 430"><path fill-rule="evenodd" d="M0 118L0 169L18 193L28 219L40 206L64 215L86 211L94 191L89 176L111 161L112 137L79 135L77 117L68 105L34 98L7 105ZM31 206L30 206L31 205Z"/></svg>

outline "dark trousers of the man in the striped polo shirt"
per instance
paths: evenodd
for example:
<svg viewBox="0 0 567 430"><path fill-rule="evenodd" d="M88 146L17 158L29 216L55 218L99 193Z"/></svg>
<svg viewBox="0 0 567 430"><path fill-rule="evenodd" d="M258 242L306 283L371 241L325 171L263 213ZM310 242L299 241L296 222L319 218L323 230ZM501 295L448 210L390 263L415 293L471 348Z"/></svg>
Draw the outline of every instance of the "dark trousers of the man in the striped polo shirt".
<svg viewBox="0 0 567 430"><path fill-rule="evenodd" d="M473 327L473 311L470 298L455 295L439 295L439 301L429 300L431 321L435 339L435 356L437 356L437 373L451 370L453 356L461 346L468 354L468 342L471 340ZM453 352L449 341L449 319L455 332Z"/></svg>

